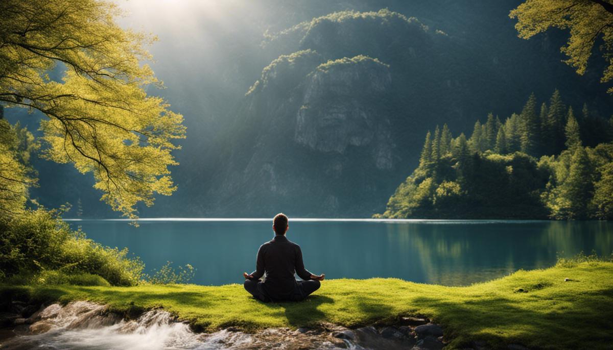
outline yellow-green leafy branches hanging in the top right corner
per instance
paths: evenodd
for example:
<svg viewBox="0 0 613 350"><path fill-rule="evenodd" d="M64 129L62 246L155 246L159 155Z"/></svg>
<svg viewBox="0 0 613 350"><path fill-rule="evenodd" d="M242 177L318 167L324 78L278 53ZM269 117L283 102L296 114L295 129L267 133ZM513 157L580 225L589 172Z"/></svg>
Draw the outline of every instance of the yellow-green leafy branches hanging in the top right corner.
<svg viewBox="0 0 613 350"><path fill-rule="evenodd" d="M585 73L596 40L607 62L601 81L613 79L613 4L608 0L527 0L509 14L517 18L519 37L530 39L549 28L569 29L570 37L562 52L566 64ZM613 88L608 89L613 94Z"/></svg>

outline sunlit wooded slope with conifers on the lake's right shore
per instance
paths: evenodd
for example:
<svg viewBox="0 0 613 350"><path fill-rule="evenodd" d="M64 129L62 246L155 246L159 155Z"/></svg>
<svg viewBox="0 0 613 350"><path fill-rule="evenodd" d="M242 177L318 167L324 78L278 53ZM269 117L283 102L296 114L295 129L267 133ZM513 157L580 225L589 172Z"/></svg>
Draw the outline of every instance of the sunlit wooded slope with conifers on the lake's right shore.
<svg viewBox="0 0 613 350"><path fill-rule="evenodd" d="M538 108L491 113L468 140L428 132L419 166L375 217L613 218L613 117L579 113L559 91Z"/></svg>

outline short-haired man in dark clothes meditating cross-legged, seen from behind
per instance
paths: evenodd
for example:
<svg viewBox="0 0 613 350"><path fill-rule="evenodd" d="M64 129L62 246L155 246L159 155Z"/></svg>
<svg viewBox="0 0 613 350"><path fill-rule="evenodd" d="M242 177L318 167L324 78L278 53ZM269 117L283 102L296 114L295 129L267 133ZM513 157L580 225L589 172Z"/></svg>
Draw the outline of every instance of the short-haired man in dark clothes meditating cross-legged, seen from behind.
<svg viewBox="0 0 613 350"><path fill-rule="evenodd" d="M257 251L256 270L251 274L243 272L246 291L263 302L304 300L319 289L319 281L326 277L325 274L313 275L305 269L300 245L285 237L288 228L287 216L275 215L272 225L275 238L262 244ZM264 281L259 281L264 272ZM294 274L302 281L297 281Z"/></svg>

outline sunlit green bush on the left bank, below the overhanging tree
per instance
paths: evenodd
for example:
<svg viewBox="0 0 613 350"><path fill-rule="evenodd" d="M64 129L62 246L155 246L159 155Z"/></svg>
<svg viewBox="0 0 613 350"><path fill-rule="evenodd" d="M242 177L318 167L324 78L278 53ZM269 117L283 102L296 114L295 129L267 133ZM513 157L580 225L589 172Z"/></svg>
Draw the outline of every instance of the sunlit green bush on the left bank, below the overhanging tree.
<svg viewBox="0 0 613 350"><path fill-rule="evenodd" d="M57 210L27 210L10 220L0 222L0 278L45 274L58 283L69 283L64 276L93 274L111 285L132 286L142 278L144 264L129 258L128 250L104 247L87 239L82 231L74 231L63 222ZM64 278L64 279L63 279ZM96 283L101 283L96 281Z"/></svg>

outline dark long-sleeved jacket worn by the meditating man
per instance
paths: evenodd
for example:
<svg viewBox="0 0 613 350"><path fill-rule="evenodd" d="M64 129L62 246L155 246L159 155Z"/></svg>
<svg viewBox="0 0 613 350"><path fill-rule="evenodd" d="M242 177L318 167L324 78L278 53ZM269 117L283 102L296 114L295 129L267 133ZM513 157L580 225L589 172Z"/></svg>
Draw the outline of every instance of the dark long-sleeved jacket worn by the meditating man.
<svg viewBox="0 0 613 350"><path fill-rule="evenodd" d="M300 245L281 235L262 244L257 251L256 270L251 275L254 280L259 280L264 272L264 292L273 300L291 298L297 288L294 273L303 280L311 279L311 272L302 262Z"/></svg>

